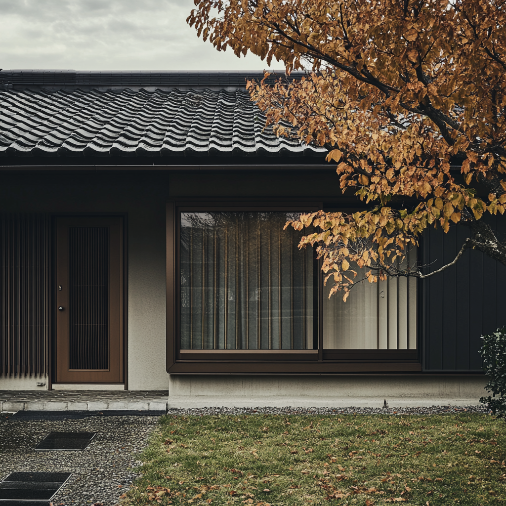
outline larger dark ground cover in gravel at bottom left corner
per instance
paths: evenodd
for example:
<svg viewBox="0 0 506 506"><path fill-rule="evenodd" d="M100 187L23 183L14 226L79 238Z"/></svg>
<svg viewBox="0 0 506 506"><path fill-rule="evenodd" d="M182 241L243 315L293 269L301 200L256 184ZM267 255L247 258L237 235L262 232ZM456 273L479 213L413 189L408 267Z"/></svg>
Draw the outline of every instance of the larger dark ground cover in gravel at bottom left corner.
<svg viewBox="0 0 506 506"><path fill-rule="evenodd" d="M71 473L11 473L0 483L0 505L13 500L47 503L70 475Z"/></svg>

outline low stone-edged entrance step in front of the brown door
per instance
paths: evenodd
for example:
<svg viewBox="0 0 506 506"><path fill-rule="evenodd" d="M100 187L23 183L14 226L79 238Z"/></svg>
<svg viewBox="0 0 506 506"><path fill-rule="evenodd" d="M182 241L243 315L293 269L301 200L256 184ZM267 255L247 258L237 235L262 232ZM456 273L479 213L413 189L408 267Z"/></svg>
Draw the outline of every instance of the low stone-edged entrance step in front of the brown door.
<svg viewBox="0 0 506 506"><path fill-rule="evenodd" d="M0 411L166 411L168 392L91 391L91 390L0 390Z"/></svg>

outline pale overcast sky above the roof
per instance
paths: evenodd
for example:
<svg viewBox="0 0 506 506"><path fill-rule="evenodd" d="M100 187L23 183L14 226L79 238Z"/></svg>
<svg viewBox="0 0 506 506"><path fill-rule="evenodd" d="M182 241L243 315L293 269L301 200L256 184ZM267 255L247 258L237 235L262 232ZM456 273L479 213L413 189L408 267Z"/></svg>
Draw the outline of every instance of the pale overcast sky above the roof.
<svg viewBox="0 0 506 506"><path fill-rule="evenodd" d="M263 70L197 38L193 0L0 0L0 68ZM283 68L282 64L275 68Z"/></svg>

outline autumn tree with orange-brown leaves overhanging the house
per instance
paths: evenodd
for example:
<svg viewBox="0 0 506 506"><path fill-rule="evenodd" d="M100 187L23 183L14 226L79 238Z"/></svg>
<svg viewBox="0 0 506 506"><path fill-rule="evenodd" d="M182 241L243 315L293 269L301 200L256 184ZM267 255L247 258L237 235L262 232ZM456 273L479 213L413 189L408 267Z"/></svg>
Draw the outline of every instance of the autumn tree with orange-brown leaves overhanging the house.
<svg viewBox="0 0 506 506"><path fill-rule="evenodd" d="M331 293L352 267L369 282L425 278L407 264L427 227L469 228L468 248L506 265L506 244L482 219L506 205L506 1L195 0L188 17L219 51L283 61L302 80L248 82L278 135L328 149L357 213L311 213ZM308 229L306 229L308 230Z"/></svg>

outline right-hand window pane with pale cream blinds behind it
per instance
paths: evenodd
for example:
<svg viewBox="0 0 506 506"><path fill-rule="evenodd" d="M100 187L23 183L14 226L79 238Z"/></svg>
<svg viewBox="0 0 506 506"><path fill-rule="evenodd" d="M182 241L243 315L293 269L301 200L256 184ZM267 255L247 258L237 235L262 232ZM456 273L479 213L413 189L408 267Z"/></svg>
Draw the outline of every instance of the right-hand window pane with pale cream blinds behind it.
<svg viewBox="0 0 506 506"><path fill-rule="evenodd" d="M416 251L410 256L416 258ZM357 280L369 269L358 269ZM323 289L323 348L329 350L416 349L416 279L389 278L353 286L330 299L331 280Z"/></svg>

